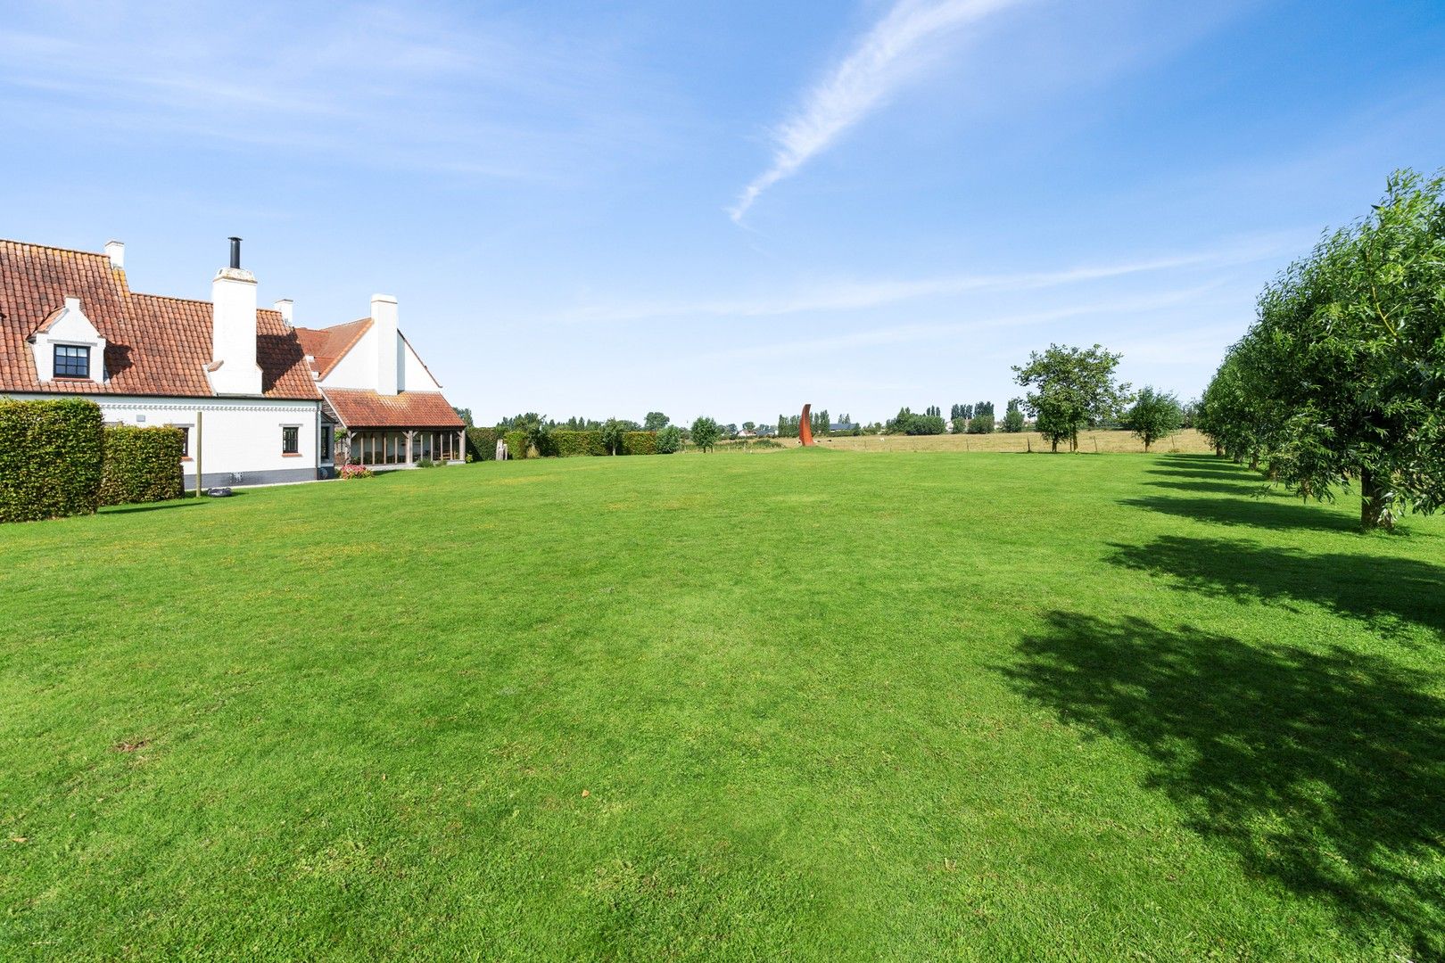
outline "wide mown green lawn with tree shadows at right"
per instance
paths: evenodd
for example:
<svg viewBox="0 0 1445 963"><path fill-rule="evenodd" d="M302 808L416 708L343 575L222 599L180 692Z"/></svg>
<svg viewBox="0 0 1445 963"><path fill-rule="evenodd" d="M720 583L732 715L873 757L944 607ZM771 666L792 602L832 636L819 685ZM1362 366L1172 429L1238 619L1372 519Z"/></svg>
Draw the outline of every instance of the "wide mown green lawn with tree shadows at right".
<svg viewBox="0 0 1445 963"><path fill-rule="evenodd" d="M1199 455L0 528L0 959L1445 957L1445 520Z"/></svg>

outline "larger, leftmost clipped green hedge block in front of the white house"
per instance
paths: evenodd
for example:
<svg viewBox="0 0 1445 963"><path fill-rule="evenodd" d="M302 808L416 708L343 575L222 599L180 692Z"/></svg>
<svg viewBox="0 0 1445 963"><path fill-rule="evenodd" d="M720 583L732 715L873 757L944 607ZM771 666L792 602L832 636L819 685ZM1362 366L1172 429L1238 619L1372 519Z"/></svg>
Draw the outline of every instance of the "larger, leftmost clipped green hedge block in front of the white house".
<svg viewBox="0 0 1445 963"><path fill-rule="evenodd" d="M94 401L0 401L0 521L94 514L104 453Z"/></svg>

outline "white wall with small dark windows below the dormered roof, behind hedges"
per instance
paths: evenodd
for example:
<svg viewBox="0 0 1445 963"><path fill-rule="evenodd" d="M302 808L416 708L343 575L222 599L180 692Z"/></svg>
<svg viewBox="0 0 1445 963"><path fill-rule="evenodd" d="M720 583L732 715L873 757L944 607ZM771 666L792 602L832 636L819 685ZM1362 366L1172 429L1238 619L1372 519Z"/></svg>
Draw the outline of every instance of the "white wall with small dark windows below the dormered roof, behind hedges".
<svg viewBox="0 0 1445 963"><path fill-rule="evenodd" d="M14 394L20 400L55 400L56 394ZM131 396L85 396L100 406L105 422L155 427L191 427L191 461L184 462L188 484L195 484L197 411L204 413L201 471L256 475L309 469L318 465L321 404L279 398L162 398ZM299 452L282 455L282 426L299 426ZM312 476L315 476L312 474ZM244 484L244 478L240 482Z"/></svg>

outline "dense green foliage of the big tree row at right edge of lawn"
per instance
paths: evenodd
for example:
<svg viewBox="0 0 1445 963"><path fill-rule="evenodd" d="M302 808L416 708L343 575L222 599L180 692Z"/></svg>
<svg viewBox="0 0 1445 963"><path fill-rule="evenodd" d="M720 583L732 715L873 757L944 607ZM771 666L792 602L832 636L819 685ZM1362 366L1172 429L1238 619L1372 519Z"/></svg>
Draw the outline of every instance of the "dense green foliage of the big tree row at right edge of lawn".
<svg viewBox="0 0 1445 963"><path fill-rule="evenodd" d="M1270 284L1201 430L1296 494L1358 481L1361 524L1445 507L1445 176L1392 175L1370 217Z"/></svg>

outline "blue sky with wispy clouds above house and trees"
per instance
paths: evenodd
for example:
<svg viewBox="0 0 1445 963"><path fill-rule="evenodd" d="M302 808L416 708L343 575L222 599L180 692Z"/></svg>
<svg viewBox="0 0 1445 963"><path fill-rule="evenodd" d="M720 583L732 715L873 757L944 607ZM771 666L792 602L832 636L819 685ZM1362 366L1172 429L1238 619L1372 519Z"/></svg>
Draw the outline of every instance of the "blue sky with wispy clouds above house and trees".
<svg viewBox="0 0 1445 963"><path fill-rule="evenodd" d="M26 3L0 235L373 292L478 422L1003 403L1051 341L1198 394L1259 289L1445 166L1445 6Z"/></svg>

